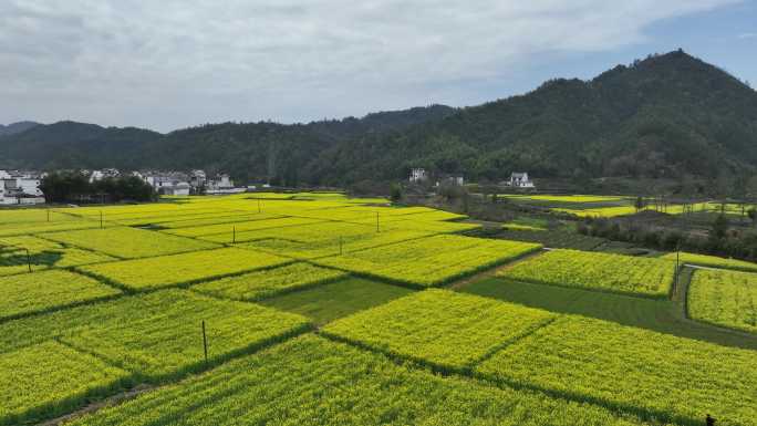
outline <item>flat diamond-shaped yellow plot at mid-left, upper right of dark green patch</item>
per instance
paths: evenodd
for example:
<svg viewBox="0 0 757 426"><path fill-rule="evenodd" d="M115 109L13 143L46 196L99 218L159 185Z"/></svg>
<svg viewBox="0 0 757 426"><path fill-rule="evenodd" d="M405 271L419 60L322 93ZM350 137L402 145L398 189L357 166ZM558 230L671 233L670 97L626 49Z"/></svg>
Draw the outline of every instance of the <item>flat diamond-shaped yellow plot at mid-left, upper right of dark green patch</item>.
<svg viewBox="0 0 757 426"><path fill-rule="evenodd" d="M189 238L120 227L44 233L42 237L124 259L174 254L218 247Z"/></svg>

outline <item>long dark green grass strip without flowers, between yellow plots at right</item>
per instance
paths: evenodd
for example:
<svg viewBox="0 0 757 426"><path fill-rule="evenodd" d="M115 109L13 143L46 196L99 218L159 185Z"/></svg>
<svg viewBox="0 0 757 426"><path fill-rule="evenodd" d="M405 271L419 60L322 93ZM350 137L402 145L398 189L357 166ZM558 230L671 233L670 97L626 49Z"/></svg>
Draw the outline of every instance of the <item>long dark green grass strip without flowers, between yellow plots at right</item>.
<svg viewBox="0 0 757 426"><path fill-rule="evenodd" d="M749 339L688 321L683 308L668 300L652 300L570 289L545 284L519 282L501 278L488 278L471 282L463 292L540 308L552 312L579 314L622 325L637 326L681 337L695 339L757 350L757 337Z"/></svg>

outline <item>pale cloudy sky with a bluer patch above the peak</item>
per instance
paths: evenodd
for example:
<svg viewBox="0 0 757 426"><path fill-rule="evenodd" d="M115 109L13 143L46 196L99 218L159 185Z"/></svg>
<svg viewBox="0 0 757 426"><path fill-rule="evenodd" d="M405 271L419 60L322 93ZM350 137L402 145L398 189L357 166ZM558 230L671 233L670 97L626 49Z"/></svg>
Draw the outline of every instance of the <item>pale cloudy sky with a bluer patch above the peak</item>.
<svg viewBox="0 0 757 426"><path fill-rule="evenodd" d="M757 0L2 0L0 123L467 106L678 48L757 87Z"/></svg>

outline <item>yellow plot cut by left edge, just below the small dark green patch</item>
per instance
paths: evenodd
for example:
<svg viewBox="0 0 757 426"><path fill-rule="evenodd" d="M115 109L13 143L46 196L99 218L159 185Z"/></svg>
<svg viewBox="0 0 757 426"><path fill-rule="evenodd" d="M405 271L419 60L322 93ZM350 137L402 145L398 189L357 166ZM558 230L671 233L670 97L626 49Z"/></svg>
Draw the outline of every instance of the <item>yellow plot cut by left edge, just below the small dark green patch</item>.
<svg viewBox="0 0 757 426"><path fill-rule="evenodd" d="M89 277L64 270L0 278L0 319L84 303L121 293Z"/></svg>

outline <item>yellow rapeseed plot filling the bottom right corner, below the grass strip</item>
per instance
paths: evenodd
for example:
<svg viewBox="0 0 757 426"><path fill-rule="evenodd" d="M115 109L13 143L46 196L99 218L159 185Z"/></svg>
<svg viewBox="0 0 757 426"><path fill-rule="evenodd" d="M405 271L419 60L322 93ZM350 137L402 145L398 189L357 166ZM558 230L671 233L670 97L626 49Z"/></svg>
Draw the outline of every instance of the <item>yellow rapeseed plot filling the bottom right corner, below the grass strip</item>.
<svg viewBox="0 0 757 426"><path fill-rule="evenodd" d="M563 316L505 347L477 374L662 422L754 425L757 355L582 316Z"/></svg>

